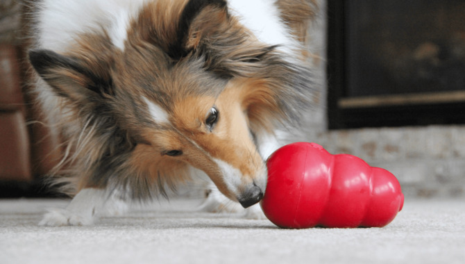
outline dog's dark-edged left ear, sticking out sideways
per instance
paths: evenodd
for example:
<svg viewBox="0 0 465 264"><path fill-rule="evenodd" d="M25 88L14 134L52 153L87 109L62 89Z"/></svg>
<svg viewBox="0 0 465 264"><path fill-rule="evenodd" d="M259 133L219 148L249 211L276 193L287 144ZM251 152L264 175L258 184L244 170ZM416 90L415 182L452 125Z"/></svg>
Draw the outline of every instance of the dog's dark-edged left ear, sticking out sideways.
<svg viewBox="0 0 465 264"><path fill-rule="evenodd" d="M92 69L83 60L40 49L28 53L29 61L54 92L71 101L112 93L112 80L105 69Z"/></svg>

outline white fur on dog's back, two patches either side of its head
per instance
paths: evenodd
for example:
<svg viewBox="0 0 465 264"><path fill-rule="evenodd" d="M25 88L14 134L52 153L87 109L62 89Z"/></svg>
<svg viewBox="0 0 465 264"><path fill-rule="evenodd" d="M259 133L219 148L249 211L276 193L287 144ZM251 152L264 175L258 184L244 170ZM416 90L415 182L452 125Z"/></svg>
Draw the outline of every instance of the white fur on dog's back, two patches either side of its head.
<svg viewBox="0 0 465 264"><path fill-rule="evenodd" d="M113 44L124 49L126 29L130 17L135 17L144 3L150 0L43 0L38 13L39 47L56 52L66 51L76 34L101 31L105 25ZM291 55L298 42L281 22L274 0L228 0L230 13L249 28L257 40L273 45ZM296 56L289 56L289 59Z"/></svg>

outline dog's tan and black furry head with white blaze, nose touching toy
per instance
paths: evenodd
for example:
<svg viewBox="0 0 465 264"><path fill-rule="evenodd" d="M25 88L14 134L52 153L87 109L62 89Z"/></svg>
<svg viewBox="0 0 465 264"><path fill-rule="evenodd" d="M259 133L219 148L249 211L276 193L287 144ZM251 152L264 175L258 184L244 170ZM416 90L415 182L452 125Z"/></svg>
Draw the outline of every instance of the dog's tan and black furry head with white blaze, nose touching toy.
<svg viewBox="0 0 465 264"><path fill-rule="evenodd" d="M255 137L302 115L307 69L256 40L226 1L157 1L129 24L123 49L103 31L65 54L29 53L76 134L92 135L75 147L86 184L112 179L144 198L190 165L244 207L260 201L267 168Z"/></svg>

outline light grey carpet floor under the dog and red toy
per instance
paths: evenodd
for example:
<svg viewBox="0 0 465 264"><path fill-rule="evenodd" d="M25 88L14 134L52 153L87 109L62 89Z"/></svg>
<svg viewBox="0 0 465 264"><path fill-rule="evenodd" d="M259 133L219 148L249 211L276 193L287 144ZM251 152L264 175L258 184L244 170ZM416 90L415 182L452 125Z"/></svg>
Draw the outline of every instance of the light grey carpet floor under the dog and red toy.
<svg viewBox="0 0 465 264"><path fill-rule="evenodd" d="M465 201L406 199L391 224L279 229L172 199L94 226L37 226L60 199L0 200L0 263L465 263Z"/></svg>

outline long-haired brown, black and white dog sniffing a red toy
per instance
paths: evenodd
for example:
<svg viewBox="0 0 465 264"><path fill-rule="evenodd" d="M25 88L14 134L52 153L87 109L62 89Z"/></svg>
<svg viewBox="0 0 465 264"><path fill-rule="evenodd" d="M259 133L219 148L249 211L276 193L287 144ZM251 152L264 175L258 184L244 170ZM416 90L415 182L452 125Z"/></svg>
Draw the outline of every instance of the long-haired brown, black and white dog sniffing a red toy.
<svg viewBox="0 0 465 264"><path fill-rule="evenodd" d="M28 59L74 195L42 225L92 224L205 173L257 207L276 131L300 124L312 0L40 0ZM210 211L219 195L211 195ZM254 206L255 205L255 206ZM217 206L218 208L218 206Z"/></svg>

